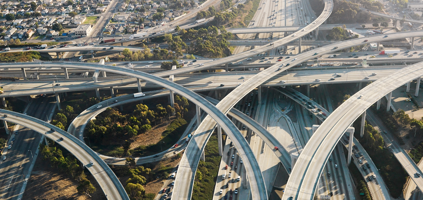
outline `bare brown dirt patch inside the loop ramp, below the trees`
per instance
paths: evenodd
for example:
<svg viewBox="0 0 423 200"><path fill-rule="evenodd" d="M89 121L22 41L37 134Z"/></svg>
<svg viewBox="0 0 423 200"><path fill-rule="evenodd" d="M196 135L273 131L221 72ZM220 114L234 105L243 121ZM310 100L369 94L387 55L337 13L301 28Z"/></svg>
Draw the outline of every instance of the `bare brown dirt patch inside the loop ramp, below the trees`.
<svg viewBox="0 0 423 200"><path fill-rule="evenodd" d="M166 131L166 128L168 128L168 125L174 118L175 117L172 116L170 118L171 121L163 119L161 124L153 126L150 131L137 135L134 142L131 143L130 148L134 149L140 145L148 146L150 144L157 144L162 139L162 133Z"/></svg>

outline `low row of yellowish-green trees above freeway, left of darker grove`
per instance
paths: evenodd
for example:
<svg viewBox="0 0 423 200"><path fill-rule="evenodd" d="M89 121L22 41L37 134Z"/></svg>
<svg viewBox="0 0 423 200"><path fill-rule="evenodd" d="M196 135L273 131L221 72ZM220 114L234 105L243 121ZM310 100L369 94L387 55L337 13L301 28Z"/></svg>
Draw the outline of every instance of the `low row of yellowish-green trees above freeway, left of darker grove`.
<svg viewBox="0 0 423 200"><path fill-rule="evenodd" d="M124 49L122 55L127 61L172 60L176 58L176 53L160 48L154 49L153 52L149 48L135 52Z"/></svg>

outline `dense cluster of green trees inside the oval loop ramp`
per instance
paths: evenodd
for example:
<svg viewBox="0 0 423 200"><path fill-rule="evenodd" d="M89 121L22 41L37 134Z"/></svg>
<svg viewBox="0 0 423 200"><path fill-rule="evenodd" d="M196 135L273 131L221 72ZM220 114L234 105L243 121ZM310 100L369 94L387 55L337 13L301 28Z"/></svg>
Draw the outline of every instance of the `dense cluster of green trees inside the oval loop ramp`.
<svg viewBox="0 0 423 200"><path fill-rule="evenodd" d="M125 134L135 137L151 129L151 124L161 122L164 117L170 117L176 112L176 117L183 117L188 111L188 100L184 97L175 97L174 108L170 105L163 107L157 104L154 110L144 104L136 105L132 116L122 115L117 108L107 108L96 117L96 120L88 122L88 136L93 138L94 142L101 143L103 139L109 142L111 139L122 138ZM129 149L130 142L124 142L125 149Z"/></svg>

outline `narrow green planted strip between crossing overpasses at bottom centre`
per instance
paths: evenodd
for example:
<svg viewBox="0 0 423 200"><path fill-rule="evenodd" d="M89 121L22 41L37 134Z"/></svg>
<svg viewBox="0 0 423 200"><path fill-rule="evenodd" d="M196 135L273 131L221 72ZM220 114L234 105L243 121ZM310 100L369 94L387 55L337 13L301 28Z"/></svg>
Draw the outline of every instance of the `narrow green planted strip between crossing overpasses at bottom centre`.
<svg viewBox="0 0 423 200"><path fill-rule="evenodd" d="M206 161L200 161L195 175L192 200L212 199L217 172L222 156L219 156L217 136L213 134L204 150Z"/></svg>

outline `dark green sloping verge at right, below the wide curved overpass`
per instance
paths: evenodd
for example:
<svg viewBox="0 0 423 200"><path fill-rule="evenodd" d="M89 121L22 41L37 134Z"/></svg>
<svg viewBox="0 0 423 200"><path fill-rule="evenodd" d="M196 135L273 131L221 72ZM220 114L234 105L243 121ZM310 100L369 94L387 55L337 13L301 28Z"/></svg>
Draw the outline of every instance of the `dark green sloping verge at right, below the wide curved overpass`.
<svg viewBox="0 0 423 200"><path fill-rule="evenodd" d="M354 128L357 130L354 132L354 136L363 145L364 149L372 158L376 167L380 169L379 172L382 175L382 178L385 181L391 196L394 198L400 197L402 194L403 186L407 181L407 173L404 171L403 167L395 158L395 156L387 148L385 148L385 145L381 145L382 148L375 147L376 143L368 139L369 136L365 136L363 138L360 137L360 124L361 118L354 122ZM365 131L365 135L375 134L377 132L371 125L367 124L365 126L365 130L369 127L371 128L371 131ZM377 135L375 135L375 138L377 138ZM384 142L382 141L382 143Z"/></svg>

